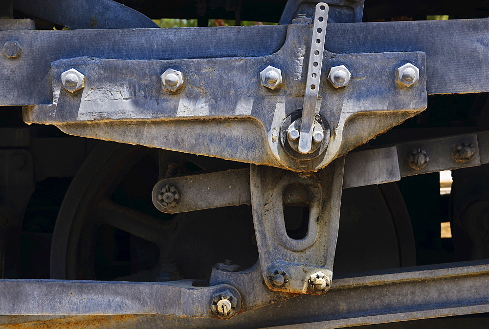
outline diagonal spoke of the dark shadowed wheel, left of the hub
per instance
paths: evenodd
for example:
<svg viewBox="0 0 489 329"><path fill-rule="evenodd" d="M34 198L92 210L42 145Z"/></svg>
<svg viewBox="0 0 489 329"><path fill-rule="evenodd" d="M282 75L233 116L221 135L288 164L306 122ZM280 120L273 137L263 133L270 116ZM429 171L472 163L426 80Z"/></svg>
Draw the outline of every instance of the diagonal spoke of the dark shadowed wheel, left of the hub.
<svg viewBox="0 0 489 329"><path fill-rule="evenodd" d="M165 241L165 231L170 228L169 222L164 222L140 211L117 205L110 200L101 201L93 210L93 215L101 223L122 229L144 240L160 245Z"/></svg>

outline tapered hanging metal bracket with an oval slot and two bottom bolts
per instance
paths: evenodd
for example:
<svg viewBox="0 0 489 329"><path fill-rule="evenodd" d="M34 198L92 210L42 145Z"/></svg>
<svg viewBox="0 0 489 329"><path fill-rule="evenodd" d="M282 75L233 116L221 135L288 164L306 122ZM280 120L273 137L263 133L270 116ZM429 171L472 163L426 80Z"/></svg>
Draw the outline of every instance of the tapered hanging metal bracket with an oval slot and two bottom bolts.
<svg viewBox="0 0 489 329"><path fill-rule="evenodd" d="M251 206L262 275L272 290L321 294L333 277L344 158L316 174L301 175L251 165ZM273 187L272 187L273 186ZM284 221L284 194L305 187L309 194L307 233L291 238Z"/></svg>

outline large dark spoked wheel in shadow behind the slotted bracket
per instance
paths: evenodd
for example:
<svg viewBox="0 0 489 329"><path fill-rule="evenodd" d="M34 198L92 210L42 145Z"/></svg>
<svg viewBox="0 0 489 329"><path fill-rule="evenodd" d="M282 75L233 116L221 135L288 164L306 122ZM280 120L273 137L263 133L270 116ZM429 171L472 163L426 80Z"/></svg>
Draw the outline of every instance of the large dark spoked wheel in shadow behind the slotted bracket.
<svg viewBox="0 0 489 329"><path fill-rule="evenodd" d="M166 175L202 170L192 156L167 152ZM209 160L221 169L235 165ZM161 281L209 279L212 265L258 259L250 206L176 215L151 201L158 150L100 143L73 179L54 229L51 277ZM223 191L225 193L226 191ZM335 273L415 265L409 217L397 185L343 191ZM169 266L169 260L174 261ZM178 268L178 270L177 270Z"/></svg>

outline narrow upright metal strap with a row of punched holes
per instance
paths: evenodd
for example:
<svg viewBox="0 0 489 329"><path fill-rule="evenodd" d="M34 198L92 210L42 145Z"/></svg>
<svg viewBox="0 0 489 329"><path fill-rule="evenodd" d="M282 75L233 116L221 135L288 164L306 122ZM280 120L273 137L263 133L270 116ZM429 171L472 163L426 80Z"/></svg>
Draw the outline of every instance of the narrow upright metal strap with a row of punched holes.
<svg viewBox="0 0 489 329"><path fill-rule="evenodd" d="M314 23L311 40L311 53L309 54L309 68L302 106L302 123L299 137L299 152L308 153L311 150L314 117L316 116L317 95L323 63L324 39L326 37L326 23L328 21L328 5L319 2L314 13Z"/></svg>

